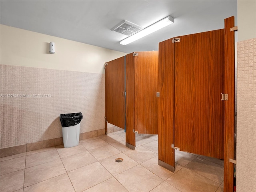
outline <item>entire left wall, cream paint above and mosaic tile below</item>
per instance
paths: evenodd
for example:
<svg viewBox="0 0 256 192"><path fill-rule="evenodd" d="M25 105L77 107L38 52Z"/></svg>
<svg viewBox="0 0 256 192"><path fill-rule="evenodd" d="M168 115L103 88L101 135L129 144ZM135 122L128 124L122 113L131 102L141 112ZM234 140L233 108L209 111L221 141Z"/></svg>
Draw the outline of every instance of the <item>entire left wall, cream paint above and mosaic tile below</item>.
<svg viewBox="0 0 256 192"><path fill-rule="evenodd" d="M125 53L5 25L0 37L0 148L62 137L64 113L82 112L80 133L105 128L104 63Z"/></svg>

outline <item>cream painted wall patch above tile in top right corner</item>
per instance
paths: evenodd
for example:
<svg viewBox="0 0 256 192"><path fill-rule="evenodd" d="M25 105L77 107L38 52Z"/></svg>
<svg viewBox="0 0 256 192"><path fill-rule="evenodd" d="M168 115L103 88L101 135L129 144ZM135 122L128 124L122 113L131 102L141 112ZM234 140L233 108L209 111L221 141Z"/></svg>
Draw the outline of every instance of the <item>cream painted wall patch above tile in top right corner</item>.
<svg viewBox="0 0 256 192"><path fill-rule="evenodd" d="M256 38L256 0L238 0L238 41Z"/></svg>

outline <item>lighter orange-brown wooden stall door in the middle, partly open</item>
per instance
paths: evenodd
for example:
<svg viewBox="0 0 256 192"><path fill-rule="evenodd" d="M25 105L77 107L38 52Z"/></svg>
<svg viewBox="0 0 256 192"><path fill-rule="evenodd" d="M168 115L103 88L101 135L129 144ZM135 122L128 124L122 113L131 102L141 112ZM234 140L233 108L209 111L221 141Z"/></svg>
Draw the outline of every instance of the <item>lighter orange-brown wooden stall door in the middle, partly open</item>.
<svg viewBox="0 0 256 192"><path fill-rule="evenodd" d="M139 134L158 134L158 51L134 56L134 128Z"/></svg>

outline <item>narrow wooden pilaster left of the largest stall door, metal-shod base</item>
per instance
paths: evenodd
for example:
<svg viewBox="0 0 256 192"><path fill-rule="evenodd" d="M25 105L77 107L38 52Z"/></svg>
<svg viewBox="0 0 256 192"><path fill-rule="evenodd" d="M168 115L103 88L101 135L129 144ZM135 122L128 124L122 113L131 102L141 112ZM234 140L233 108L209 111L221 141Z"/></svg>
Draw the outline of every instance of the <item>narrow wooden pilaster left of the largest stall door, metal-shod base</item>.
<svg viewBox="0 0 256 192"><path fill-rule="evenodd" d="M158 164L174 172L174 43L159 43Z"/></svg>

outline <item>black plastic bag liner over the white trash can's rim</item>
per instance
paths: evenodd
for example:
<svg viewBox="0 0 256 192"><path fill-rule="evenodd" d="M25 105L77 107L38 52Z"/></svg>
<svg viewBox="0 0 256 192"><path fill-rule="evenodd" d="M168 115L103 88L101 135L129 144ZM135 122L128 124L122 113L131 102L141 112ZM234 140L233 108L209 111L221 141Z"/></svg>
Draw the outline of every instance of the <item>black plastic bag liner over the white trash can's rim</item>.
<svg viewBox="0 0 256 192"><path fill-rule="evenodd" d="M69 127L77 125L81 122L83 118L82 113L67 113L67 114L60 114L60 122L62 127Z"/></svg>

